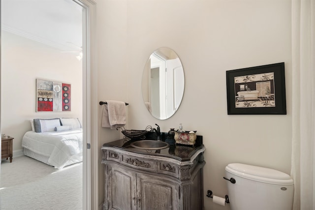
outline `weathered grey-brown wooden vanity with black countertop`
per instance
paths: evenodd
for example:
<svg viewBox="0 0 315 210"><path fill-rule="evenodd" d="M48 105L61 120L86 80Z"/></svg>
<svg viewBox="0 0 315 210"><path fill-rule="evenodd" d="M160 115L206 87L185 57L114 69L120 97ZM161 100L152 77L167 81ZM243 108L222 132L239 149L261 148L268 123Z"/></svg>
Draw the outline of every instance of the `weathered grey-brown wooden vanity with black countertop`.
<svg viewBox="0 0 315 210"><path fill-rule="evenodd" d="M102 147L105 164L104 210L202 210L202 136L193 147L160 150L131 146L121 139Z"/></svg>

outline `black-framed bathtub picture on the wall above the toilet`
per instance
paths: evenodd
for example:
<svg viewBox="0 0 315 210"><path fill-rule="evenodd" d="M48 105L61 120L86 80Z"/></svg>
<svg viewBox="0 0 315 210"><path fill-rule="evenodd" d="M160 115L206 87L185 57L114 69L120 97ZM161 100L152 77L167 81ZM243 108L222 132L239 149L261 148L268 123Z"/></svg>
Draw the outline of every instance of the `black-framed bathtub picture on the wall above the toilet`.
<svg viewBox="0 0 315 210"><path fill-rule="evenodd" d="M228 115L286 115L284 62L226 71Z"/></svg>

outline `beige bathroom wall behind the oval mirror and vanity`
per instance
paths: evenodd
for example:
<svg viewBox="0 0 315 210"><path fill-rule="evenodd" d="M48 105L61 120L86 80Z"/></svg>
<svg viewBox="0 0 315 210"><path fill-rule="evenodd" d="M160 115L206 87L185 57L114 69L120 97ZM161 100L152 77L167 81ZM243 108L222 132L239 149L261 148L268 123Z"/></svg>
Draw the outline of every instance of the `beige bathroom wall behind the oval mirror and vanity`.
<svg viewBox="0 0 315 210"><path fill-rule="evenodd" d="M130 105L127 128L158 123L197 130L205 151L204 193L227 194L224 168L240 162L290 173L291 7L288 0L95 0L99 100ZM153 118L141 94L149 55L170 47L185 72L185 93L177 113ZM287 115L227 115L225 71L285 62ZM101 112L101 107L99 107ZM100 122L100 118L99 118ZM99 147L120 132L99 129ZM99 155L99 162L101 154ZM104 199L99 164L99 204ZM228 210L204 196L206 210Z"/></svg>

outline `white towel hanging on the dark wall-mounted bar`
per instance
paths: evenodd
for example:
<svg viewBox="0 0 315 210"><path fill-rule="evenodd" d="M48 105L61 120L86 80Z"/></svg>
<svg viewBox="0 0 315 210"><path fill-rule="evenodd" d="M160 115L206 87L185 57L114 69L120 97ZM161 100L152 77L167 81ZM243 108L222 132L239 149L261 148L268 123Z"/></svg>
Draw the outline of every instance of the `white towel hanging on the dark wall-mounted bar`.
<svg viewBox="0 0 315 210"><path fill-rule="evenodd" d="M102 127L115 129L126 125L126 104L122 101L106 101L102 115Z"/></svg>

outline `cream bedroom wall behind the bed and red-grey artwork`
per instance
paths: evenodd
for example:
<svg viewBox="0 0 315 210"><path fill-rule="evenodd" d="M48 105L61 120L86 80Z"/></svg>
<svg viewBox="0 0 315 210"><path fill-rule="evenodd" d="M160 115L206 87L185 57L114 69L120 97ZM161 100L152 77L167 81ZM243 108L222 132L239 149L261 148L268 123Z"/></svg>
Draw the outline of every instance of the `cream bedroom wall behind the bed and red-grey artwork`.
<svg viewBox="0 0 315 210"><path fill-rule="evenodd" d="M71 84L70 112L36 112L36 78ZM31 130L30 119L76 117L82 122L82 61L71 53L1 31L1 133L14 137L14 153Z"/></svg>

